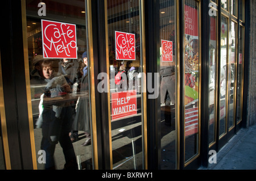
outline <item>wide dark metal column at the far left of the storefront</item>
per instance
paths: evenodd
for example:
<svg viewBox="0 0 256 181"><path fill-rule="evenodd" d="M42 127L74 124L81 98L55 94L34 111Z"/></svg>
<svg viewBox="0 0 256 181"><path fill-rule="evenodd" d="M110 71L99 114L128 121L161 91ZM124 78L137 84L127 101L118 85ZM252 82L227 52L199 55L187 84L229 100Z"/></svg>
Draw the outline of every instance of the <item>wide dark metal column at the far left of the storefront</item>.
<svg viewBox="0 0 256 181"><path fill-rule="evenodd" d="M33 169L26 78L24 68L21 1L1 4L1 64L11 169Z"/></svg>

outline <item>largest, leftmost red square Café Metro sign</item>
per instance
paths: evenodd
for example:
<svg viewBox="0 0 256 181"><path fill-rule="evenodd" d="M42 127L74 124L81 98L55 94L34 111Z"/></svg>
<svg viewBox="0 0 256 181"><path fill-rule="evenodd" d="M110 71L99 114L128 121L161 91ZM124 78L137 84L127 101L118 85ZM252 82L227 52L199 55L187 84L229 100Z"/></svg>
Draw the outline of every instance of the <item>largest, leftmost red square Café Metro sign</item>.
<svg viewBox="0 0 256 181"><path fill-rule="evenodd" d="M76 25L42 19L44 58L77 58Z"/></svg>

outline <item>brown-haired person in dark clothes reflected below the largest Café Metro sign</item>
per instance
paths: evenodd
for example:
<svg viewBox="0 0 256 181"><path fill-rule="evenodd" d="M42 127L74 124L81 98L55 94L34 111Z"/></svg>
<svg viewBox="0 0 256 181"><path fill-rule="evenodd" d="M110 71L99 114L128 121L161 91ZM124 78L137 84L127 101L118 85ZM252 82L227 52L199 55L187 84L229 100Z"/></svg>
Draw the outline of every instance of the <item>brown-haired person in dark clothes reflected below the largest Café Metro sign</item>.
<svg viewBox="0 0 256 181"><path fill-rule="evenodd" d="M70 100L65 100L71 87L60 73L53 70L55 61L44 60L42 73L47 85L44 91L42 112L41 149L46 151L46 169L56 169L53 154L57 142L65 157L64 169L77 169L76 155L69 132L72 128L72 108Z"/></svg>

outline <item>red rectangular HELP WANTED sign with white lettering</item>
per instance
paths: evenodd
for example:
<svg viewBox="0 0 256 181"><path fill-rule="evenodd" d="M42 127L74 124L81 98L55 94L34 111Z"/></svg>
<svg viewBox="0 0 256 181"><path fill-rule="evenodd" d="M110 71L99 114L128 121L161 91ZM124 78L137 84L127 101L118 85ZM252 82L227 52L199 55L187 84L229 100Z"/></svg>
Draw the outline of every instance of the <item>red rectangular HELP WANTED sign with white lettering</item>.
<svg viewBox="0 0 256 181"><path fill-rule="evenodd" d="M114 92L112 95L112 121L137 114L136 90Z"/></svg>

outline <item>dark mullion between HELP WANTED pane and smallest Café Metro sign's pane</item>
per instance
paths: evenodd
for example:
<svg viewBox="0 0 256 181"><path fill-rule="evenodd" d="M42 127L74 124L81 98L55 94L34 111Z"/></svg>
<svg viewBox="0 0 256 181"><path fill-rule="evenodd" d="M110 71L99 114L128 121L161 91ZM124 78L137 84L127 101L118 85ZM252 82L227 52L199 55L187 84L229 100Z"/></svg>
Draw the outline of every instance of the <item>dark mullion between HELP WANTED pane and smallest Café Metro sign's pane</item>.
<svg viewBox="0 0 256 181"><path fill-rule="evenodd" d="M146 70L147 73L159 72L159 1L145 1L145 29L146 31ZM154 85L154 77L147 78ZM160 83L160 81L159 81ZM157 87L160 90L160 85ZM160 92L158 90L158 92ZM148 94L148 93L147 93ZM160 99L147 99L148 126L148 169L160 167Z"/></svg>

